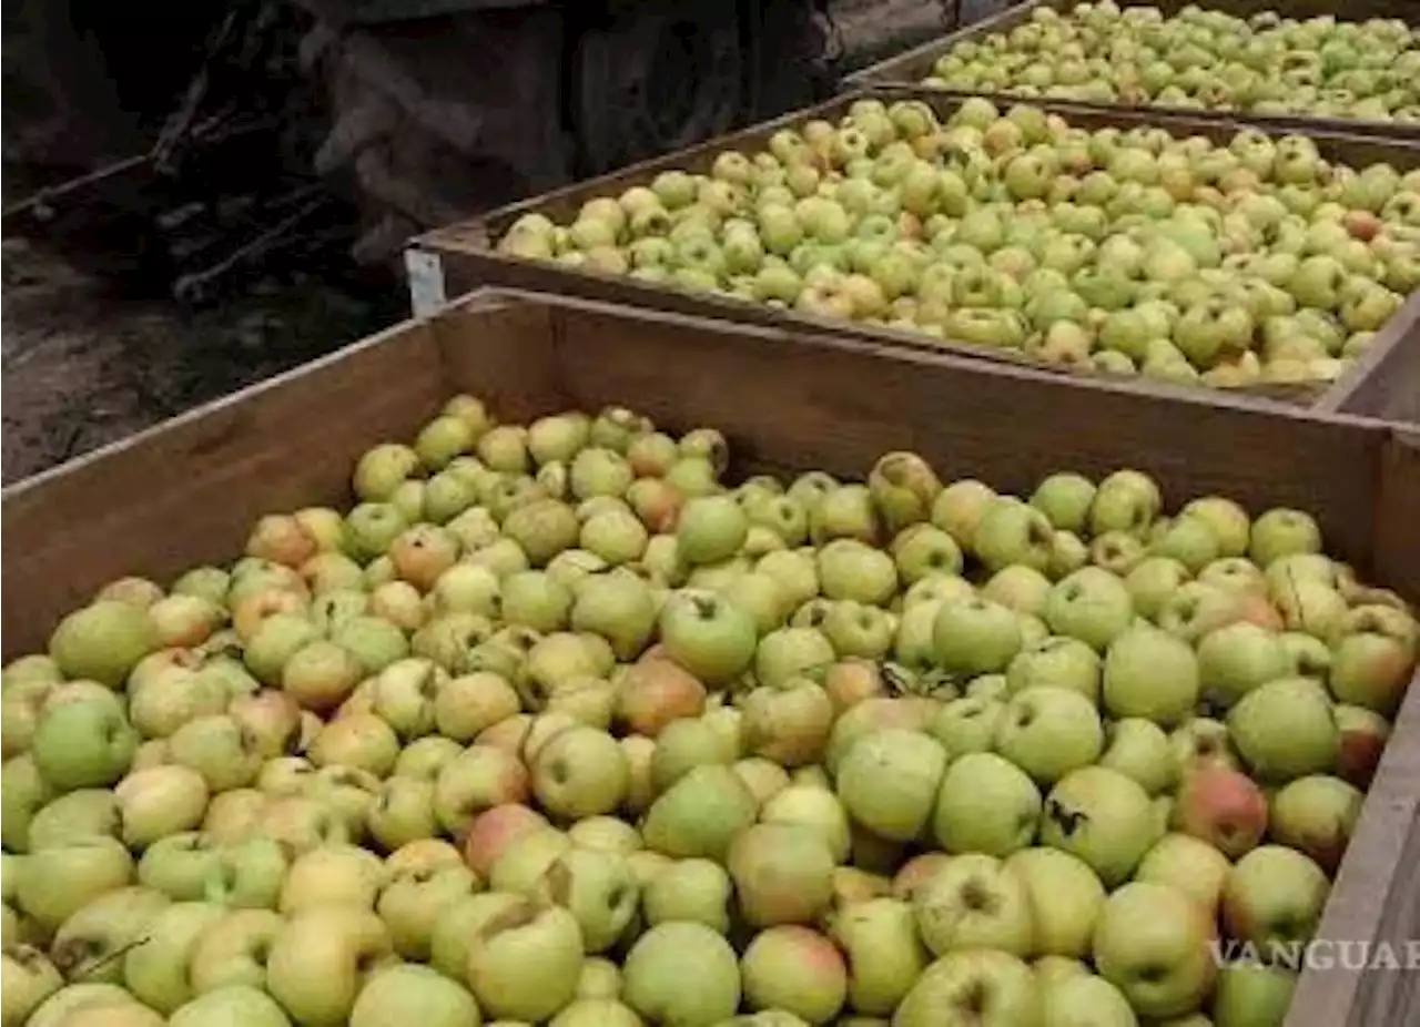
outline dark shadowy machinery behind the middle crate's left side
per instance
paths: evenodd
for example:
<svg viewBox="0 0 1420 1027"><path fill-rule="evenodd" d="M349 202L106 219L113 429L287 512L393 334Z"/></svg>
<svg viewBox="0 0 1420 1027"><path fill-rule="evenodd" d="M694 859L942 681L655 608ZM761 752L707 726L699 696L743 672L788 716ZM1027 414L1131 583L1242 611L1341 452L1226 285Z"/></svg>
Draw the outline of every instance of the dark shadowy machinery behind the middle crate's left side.
<svg viewBox="0 0 1420 1027"><path fill-rule="evenodd" d="M334 112L317 168L358 189L362 260L824 85L807 0L297 3L317 18L307 50ZM399 17L410 11L420 17Z"/></svg>

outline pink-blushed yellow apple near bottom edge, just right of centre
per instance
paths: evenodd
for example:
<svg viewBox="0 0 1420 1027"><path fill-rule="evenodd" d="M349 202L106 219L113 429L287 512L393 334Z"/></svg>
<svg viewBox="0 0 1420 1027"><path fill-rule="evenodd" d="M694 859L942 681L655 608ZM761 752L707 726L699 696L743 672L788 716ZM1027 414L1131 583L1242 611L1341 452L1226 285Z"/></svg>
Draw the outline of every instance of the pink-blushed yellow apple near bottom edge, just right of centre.
<svg viewBox="0 0 1420 1027"><path fill-rule="evenodd" d="M848 967L824 935L785 925L754 936L740 960L746 1004L822 1024L848 999Z"/></svg>

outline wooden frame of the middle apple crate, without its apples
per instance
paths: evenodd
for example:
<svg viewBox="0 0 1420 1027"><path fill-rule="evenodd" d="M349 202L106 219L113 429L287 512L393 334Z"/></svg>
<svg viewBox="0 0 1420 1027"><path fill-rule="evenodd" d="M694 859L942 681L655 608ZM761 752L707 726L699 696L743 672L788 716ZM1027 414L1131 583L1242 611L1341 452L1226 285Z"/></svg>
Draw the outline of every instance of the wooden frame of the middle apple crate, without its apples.
<svg viewBox="0 0 1420 1027"><path fill-rule="evenodd" d="M1051 374L1069 378L1106 376L1103 372L1074 371L1037 362L1014 349L993 349L951 341L930 339L926 335L890 327L862 325L853 321L805 314L794 310L774 308L750 300L724 294L711 294L670 288L648 283L630 276L612 276L585 271L565 264L528 260L498 253L497 240L524 214L538 213L562 223L575 217L581 206L596 197L616 196L630 186L649 185L657 173L666 170L690 170L706 173L714 158L727 149L753 153L763 151L767 141L780 129L797 128L811 119L836 122L849 107L863 98L883 102L897 99L922 99L932 105L940 116L949 116L961 105L964 97L914 87L878 87L853 94L845 94L825 104L811 107L731 135L720 136L677 153L645 161L609 175L579 182L551 193L521 200L500 207L480 217L436 229L415 239L405 253L409 277L410 300L416 313L437 310L452 297L474 288L491 286L527 288L559 295L579 295L591 300L623 303L635 307L665 310L697 317L728 318L746 324L782 327L797 331L814 331L846 335L862 339L883 349L951 352L967 359L991 362L1012 362L1037 366ZM1042 109L1064 116L1072 125L1099 131L1106 126L1163 128L1179 138L1206 136L1214 142L1225 142L1244 128L1242 122L1225 118L1198 118L1187 114L1162 114L1139 109L1100 109L1082 104L1041 102ZM1271 136L1288 135L1281 126L1261 129ZM1399 141L1362 138L1331 131L1308 131L1316 142L1321 155L1338 163L1366 166L1386 162L1399 170L1420 168L1420 146ZM1262 384L1225 389L1228 393L1247 395L1258 402L1284 402L1309 406L1322 403L1326 409L1345 409L1360 415L1379 415L1379 408L1367 409L1377 402L1370 388L1362 388L1373 379L1392 381L1402 393L1414 389L1403 372L1410 369L1410 351L1420 347L1420 294L1411 295L1397 314L1373 339L1367 354L1346 374L1332 384L1281 385ZM1420 357L1413 358L1420 361ZM1420 374L1414 371L1413 374ZM1173 385L1142 376L1122 376L1132 388L1146 392L1177 392L1196 389L1207 393L1224 389Z"/></svg>

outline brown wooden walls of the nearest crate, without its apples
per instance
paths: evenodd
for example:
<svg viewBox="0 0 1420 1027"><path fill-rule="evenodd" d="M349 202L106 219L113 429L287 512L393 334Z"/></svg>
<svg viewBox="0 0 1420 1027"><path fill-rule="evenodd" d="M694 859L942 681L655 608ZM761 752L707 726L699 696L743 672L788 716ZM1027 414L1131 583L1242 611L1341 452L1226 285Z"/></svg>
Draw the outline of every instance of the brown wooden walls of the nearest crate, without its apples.
<svg viewBox="0 0 1420 1027"><path fill-rule="evenodd" d="M57 618L106 581L166 581L233 558L261 514L349 503L354 460L410 438L459 392L507 420L626 405L667 430L713 425L730 440L736 476L822 469L853 480L900 449L944 479L1014 491L1056 470L1135 467L1156 476L1167 509L1214 493L1252 511L1309 510L1329 553L1420 599L1420 436L1380 422L483 291L0 490L0 661L41 648ZM1323 939L1403 950L1420 936L1417 813L1411 688L1335 879ZM1308 970L1287 1024L1411 1023L1420 1007L1407 982L1400 972Z"/></svg>

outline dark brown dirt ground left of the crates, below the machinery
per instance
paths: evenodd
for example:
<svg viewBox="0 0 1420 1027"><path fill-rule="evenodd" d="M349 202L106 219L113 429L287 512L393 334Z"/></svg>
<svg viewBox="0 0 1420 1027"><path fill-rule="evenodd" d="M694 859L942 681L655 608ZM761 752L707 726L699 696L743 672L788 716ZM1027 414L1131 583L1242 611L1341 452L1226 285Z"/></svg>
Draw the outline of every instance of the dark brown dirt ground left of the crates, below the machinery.
<svg viewBox="0 0 1420 1027"><path fill-rule="evenodd" d="M192 313L0 240L0 486L358 339L386 305L297 283Z"/></svg>

